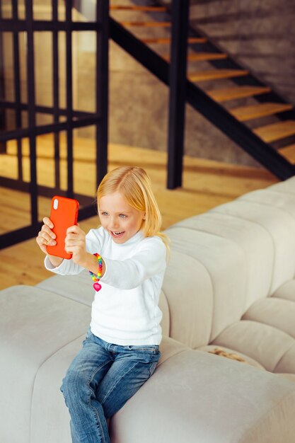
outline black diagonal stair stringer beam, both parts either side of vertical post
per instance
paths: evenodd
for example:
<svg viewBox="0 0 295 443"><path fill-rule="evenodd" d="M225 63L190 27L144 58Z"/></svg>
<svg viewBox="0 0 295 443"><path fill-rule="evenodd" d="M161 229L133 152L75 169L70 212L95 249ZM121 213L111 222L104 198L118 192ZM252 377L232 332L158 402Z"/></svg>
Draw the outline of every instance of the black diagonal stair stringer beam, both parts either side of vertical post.
<svg viewBox="0 0 295 443"><path fill-rule="evenodd" d="M137 62L149 69L159 80L169 86L169 63L134 37L132 33L129 33L126 28L123 28L113 18L110 18L110 38L132 55ZM294 176L295 168L289 161L284 159L270 144L263 142L247 126L238 122L219 103L207 96L201 88L188 80L186 80L186 100L200 114L204 115L207 120L227 134L233 142L241 146L280 180L286 180ZM176 163L177 161L174 162ZM183 171L178 171L179 173L182 174ZM173 171L170 171L170 177L173 177ZM178 180L181 181L181 178L173 177L171 178L171 183L177 183Z"/></svg>

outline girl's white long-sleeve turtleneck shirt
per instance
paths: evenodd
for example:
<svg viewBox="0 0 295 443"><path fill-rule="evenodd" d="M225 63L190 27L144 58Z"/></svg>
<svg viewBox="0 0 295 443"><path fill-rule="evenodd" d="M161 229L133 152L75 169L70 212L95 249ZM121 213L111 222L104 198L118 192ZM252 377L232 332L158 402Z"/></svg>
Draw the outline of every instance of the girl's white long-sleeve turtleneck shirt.
<svg viewBox="0 0 295 443"><path fill-rule="evenodd" d="M86 235L86 250L99 253L105 261L102 288L95 293L91 309L91 332L116 345L159 345L162 313L158 300L166 270L166 246L161 238L144 238L139 231L125 243L115 243L100 227ZM45 267L60 275L83 270L65 259L53 267L49 257Z"/></svg>

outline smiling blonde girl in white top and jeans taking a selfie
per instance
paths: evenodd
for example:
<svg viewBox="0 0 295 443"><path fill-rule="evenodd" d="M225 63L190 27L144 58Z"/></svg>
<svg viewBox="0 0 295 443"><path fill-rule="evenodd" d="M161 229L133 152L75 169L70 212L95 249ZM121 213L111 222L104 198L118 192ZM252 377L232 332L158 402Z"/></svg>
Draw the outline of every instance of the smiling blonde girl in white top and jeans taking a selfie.
<svg viewBox="0 0 295 443"><path fill-rule="evenodd" d="M108 173L98 187L98 212L99 229L67 230L71 260L45 258L45 267L61 275L88 269L96 289L90 328L61 388L73 443L110 442L106 418L149 379L160 357L158 299L168 239L159 232L161 214L146 172L130 166ZM54 226L47 217L43 222L37 243L47 253Z"/></svg>

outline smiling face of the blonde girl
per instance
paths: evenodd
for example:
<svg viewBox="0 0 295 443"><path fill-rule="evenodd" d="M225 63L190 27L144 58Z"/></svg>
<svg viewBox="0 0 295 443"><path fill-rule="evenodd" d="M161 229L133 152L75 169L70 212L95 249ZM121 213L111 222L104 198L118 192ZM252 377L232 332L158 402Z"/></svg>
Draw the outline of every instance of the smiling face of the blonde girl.
<svg viewBox="0 0 295 443"><path fill-rule="evenodd" d="M130 206L120 192L101 197L98 209L100 222L115 243L125 243L137 234L144 220L144 211Z"/></svg>

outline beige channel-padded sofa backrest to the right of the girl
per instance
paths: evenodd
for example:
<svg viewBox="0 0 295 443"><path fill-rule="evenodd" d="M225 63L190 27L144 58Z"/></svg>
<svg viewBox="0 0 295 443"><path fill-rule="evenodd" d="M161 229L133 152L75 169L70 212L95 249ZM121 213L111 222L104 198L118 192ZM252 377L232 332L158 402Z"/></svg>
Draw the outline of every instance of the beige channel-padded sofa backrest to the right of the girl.
<svg viewBox="0 0 295 443"><path fill-rule="evenodd" d="M207 345L294 277L295 178L287 181L166 230L172 246L163 322L170 337L193 348Z"/></svg>

